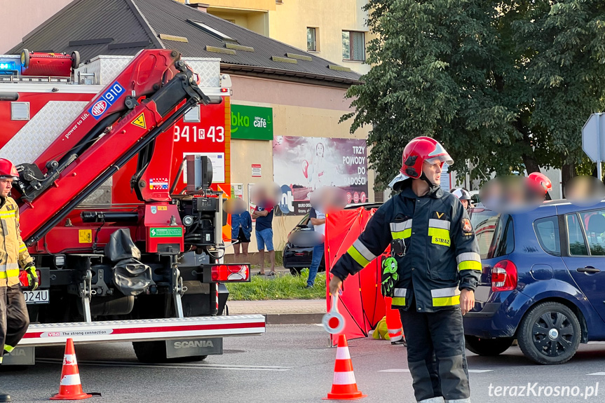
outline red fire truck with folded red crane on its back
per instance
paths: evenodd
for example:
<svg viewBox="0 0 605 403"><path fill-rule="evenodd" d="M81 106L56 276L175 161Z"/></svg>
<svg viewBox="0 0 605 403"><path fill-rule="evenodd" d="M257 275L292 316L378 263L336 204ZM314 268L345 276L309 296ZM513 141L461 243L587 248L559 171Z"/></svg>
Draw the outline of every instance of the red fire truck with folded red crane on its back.
<svg viewBox="0 0 605 403"><path fill-rule="evenodd" d="M230 86L218 59L174 50L0 55L0 158L20 172L41 279L5 362L69 337L132 341L142 362L203 359L264 332L262 315L222 315L224 282L250 281L249 265L222 263Z"/></svg>

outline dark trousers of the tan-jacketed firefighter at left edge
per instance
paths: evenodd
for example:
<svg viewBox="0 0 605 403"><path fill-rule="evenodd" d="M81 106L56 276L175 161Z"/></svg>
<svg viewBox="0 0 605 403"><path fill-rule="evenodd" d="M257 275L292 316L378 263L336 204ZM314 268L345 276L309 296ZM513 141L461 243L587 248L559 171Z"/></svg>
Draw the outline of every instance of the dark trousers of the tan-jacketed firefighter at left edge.
<svg viewBox="0 0 605 403"><path fill-rule="evenodd" d="M0 363L2 355L17 346L27 327L29 315L21 286L0 287Z"/></svg>

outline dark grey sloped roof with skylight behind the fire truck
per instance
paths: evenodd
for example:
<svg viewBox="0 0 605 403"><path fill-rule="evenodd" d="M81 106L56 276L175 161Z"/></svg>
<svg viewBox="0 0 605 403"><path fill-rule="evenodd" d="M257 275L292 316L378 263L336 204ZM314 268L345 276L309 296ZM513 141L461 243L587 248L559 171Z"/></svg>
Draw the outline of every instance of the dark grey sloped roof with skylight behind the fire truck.
<svg viewBox="0 0 605 403"><path fill-rule="evenodd" d="M184 57L220 57L224 70L241 74L344 84L360 78L314 54L174 0L75 0L25 36L11 53L23 48L57 53L78 50L82 61L97 55L135 55L142 48L168 48Z"/></svg>

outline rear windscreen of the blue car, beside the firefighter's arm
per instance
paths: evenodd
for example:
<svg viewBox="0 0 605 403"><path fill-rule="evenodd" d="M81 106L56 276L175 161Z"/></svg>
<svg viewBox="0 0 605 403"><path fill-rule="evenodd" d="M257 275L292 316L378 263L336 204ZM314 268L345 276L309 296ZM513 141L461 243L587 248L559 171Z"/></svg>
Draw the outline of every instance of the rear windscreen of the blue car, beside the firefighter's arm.
<svg viewBox="0 0 605 403"><path fill-rule="evenodd" d="M475 228L481 259L501 257L515 248L512 217L491 210L475 207L470 213Z"/></svg>

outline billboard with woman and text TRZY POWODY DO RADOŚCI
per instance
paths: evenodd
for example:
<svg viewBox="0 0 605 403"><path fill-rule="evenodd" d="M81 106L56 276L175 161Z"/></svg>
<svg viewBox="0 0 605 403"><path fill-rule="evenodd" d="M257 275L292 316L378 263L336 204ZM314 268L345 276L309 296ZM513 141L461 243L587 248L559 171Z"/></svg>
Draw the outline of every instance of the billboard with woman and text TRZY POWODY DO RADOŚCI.
<svg viewBox="0 0 605 403"><path fill-rule="evenodd" d="M366 203L365 139L276 136L273 180L282 188L280 210L285 215L308 213L308 195L321 186L343 189L348 203Z"/></svg>

